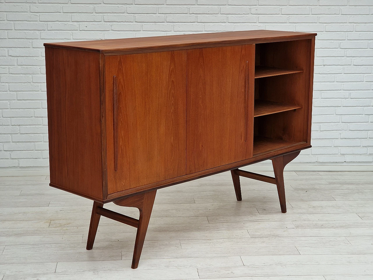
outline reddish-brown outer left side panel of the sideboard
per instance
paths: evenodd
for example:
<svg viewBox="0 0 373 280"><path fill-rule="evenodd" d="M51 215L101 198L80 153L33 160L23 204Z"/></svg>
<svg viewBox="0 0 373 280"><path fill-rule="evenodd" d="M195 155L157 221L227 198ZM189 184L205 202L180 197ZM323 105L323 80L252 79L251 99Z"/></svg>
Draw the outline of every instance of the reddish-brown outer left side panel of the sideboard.
<svg viewBox="0 0 373 280"><path fill-rule="evenodd" d="M102 199L98 56L46 47L50 182Z"/></svg>

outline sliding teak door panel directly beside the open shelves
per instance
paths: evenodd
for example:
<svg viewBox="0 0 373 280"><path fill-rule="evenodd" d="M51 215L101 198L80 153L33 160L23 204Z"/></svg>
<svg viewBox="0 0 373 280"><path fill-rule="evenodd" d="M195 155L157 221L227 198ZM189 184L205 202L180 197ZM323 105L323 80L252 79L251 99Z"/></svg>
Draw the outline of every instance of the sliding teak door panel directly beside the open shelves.
<svg viewBox="0 0 373 280"><path fill-rule="evenodd" d="M250 158L254 45L188 50L187 67L187 174Z"/></svg>

